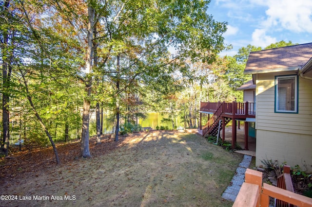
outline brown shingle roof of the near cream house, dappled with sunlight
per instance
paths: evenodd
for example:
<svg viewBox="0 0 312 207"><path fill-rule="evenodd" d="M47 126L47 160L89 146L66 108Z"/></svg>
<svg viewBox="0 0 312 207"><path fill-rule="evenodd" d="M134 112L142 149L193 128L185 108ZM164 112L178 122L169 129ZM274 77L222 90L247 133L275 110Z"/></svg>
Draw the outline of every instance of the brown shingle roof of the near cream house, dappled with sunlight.
<svg viewBox="0 0 312 207"><path fill-rule="evenodd" d="M305 65L312 57L312 43L250 52L244 73L294 69Z"/></svg>

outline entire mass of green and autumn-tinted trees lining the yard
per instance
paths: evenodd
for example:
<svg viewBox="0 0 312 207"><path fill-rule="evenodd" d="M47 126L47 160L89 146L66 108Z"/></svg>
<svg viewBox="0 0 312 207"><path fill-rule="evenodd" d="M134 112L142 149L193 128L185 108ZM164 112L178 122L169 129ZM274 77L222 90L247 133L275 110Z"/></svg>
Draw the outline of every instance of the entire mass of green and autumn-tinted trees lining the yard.
<svg viewBox="0 0 312 207"><path fill-rule="evenodd" d="M227 23L207 14L209 2L2 1L1 152L8 155L10 137L50 141L57 158L54 141L80 138L80 156L90 157L93 110L100 143L103 111L117 141L119 123L137 124L146 111L196 127L200 101L242 101L236 88L251 78L243 75L249 52L261 48L219 57Z"/></svg>

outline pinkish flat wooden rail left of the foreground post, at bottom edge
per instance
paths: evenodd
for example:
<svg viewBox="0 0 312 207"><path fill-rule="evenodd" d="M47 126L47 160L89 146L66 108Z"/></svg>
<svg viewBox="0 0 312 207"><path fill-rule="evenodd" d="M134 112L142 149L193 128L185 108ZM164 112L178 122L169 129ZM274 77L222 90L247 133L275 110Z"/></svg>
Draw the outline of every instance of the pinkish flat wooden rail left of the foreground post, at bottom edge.
<svg viewBox="0 0 312 207"><path fill-rule="evenodd" d="M256 207L259 196L260 190L258 185L243 183L233 207Z"/></svg>

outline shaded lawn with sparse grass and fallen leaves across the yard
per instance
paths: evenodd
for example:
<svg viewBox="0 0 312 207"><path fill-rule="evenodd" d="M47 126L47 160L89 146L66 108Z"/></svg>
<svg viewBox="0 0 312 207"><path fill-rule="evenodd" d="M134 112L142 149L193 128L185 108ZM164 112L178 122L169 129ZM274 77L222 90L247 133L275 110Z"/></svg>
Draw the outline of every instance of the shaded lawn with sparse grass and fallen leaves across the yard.
<svg viewBox="0 0 312 207"><path fill-rule="evenodd" d="M79 142L58 146L60 166L51 148L2 159L0 194L17 195L18 200L1 201L1 206L233 205L221 195L242 160L240 154L175 131L153 130L102 142L90 141L89 159L77 159ZM25 196L31 200L19 200Z"/></svg>

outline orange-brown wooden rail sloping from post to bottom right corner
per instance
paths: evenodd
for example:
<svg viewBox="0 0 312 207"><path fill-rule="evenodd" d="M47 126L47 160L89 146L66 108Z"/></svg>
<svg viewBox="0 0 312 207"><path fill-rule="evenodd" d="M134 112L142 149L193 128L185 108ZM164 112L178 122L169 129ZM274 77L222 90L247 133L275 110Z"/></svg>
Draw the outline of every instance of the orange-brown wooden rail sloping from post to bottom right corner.
<svg viewBox="0 0 312 207"><path fill-rule="evenodd" d="M300 207L312 207L312 198L263 183L263 194Z"/></svg>

